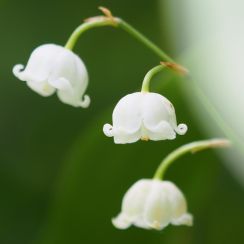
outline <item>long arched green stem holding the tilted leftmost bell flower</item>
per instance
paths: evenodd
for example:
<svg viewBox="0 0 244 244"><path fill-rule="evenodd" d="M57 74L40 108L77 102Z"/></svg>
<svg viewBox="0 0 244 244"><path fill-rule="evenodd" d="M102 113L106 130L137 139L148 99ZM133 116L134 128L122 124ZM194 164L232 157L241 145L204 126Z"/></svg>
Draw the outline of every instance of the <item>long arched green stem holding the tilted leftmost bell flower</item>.
<svg viewBox="0 0 244 244"><path fill-rule="evenodd" d="M112 27L121 28L122 30L126 31L128 34L133 36L135 39L140 41L142 44L144 44L147 48L149 48L162 61L174 62L172 58L170 58L166 53L164 53L158 46L156 46L147 37L145 37L143 34L141 34L139 31L137 31L130 24L128 24L124 20L117 18L117 17L108 18L106 16L97 16L97 17L88 19L87 22L78 26L75 29L75 31L71 34L70 38L68 39L68 41L65 45L65 48L72 50L74 48L77 40L81 36L81 34L86 32L87 30L97 28L97 27L103 27L103 26L112 26Z"/></svg>

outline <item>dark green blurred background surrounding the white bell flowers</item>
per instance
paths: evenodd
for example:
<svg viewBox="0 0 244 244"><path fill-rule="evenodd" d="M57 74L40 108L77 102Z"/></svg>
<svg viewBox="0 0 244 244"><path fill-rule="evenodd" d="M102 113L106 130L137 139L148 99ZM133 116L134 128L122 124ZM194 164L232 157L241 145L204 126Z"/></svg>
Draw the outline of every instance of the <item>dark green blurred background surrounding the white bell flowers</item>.
<svg viewBox="0 0 244 244"><path fill-rule="evenodd" d="M185 102L183 81L169 74L157 77L152 90L174 103L178 122L189 126L187 135L131 145L115 145L103 135L116 102L138 90L159 62L136 40L109 27L80 39L75 52L90 74L89 109L64 105L56 96L43 98L12 75L12 67L25 64L38 45L64 44L100 5L170 55L180 55L171 45L167 9L158 1L0 1L0 243L241 243L243 189L212 151L180 159L166 176L185 193L195 217L192 228L170 226L159 233L112 226L123 194L136 180L151 177L176 147L206 139Z"/></svg>

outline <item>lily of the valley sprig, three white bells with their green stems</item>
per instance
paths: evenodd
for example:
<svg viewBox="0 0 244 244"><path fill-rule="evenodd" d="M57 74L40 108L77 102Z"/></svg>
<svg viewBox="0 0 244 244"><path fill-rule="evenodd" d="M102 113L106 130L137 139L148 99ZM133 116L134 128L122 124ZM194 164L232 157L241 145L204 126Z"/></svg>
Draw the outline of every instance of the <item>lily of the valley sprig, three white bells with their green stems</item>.
<svg viewBox="0 0 244 244"><path fill-rule="evenodd" d="M103 16L89 18L78 26L67 43L45 44L37 47L24 65L13 68L14 75L26 82L33 91L47 97L57 93L58 98L73 107L86 108L90 98L86 95L88 72L81 58L73 52L79 37L86 31L111 26L126 31L156 54L161 64L152 68L145 76L140 92L124 96L116 105L112 122L103 127L104 134L113 137L117 144L138 140L173 140L176 134L187 132L185 124L177 124L175 109L164 96L150 92L152 77L164 68L186 74L159 47L131 25L101 7ZM207 140L190 143L175 150L159 165L152 179L137 181L125 194L121 213L112 220L115 227L126 229L135 225L144 229L162 230L169 224L192 225L193 217L187 211L187 202L181 190L163 176L169 165L186 152L228 145L226 140Z"/></svg>

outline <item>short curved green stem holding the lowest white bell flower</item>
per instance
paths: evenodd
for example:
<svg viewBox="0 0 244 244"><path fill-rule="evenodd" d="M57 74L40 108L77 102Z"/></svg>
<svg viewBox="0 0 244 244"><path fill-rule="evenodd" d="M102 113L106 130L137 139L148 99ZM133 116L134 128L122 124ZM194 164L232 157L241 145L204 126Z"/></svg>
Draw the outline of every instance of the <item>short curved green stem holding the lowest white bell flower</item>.
<svg viewBox="0 0 244 244"><path fill-rule="evenodd" d="M192 142L186 145L179 147L178 149L174 150L170 153L158 166L153 178L162 180L166 170L169 166L179 157L182 155L191 152L195 153L198 151L202 151L208 148L218 148L218 147L226 147L229 146L230 142L225 139L212 139L212 140L204 140L204 141L197 141Z"/></svg>

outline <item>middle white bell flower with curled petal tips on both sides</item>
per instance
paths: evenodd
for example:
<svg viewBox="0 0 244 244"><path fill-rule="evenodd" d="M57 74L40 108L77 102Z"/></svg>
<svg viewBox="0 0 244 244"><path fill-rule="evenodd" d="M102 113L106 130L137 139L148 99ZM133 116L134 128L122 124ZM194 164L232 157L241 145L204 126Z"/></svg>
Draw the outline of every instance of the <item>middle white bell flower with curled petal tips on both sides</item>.
<svg viewBox="0 0 244 244"><path fill-rule="evenodd" d="M105 124L104 134L115 143L142 140L175 139L176 133L187 131L185 124L177 126L173 105L157 93L136 92L123 97L113 111L113 126Z"/></svg>

